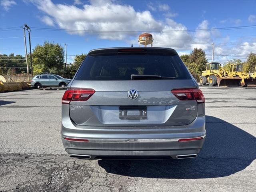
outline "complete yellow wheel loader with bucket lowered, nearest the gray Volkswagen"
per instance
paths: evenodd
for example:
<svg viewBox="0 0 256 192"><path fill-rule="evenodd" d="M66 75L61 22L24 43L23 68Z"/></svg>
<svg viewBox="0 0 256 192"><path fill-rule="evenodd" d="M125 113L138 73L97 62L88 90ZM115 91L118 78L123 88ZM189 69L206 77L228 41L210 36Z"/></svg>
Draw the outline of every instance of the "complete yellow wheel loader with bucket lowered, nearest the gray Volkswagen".
<svg viewBox="0 0 256 192"><path fill-rule="evenodd" d="M220 66L218 62L207 63L206 70L202 71L200 76L200 85L209 83L210 86L239 86L242 78L230 77L229 73Z"/></svg>

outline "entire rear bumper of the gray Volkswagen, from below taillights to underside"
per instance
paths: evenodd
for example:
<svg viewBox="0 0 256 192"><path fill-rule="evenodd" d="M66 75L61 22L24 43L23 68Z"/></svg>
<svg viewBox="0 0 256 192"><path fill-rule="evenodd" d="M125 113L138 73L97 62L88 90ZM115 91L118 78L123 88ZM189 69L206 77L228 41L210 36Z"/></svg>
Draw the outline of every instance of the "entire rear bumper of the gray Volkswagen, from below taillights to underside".
<svg viewBox="0 0 256 192"><path fill-rule="evenodd" d="M120 128L78 126L70 120L68 108L62 109L62 143L66 152L75 156L86 155L92 159L110 156L176 158L178 155L198 154L204 144L204 138L184 142L178 142L177 138L196 138L205 135L204 113L198 114L192 123L184 126L122 126ZM70 141L64 138L87 139L89 142Z"/></svg>

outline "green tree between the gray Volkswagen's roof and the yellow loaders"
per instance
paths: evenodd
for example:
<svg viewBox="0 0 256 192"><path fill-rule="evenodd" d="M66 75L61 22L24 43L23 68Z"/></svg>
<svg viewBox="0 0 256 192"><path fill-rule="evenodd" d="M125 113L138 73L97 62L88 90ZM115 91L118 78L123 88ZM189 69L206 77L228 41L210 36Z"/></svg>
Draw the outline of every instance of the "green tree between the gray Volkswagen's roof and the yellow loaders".
<svg viewBox="0 0 256 192"><path fill-rule="evenodd" d="M185 64L191 74L195 78L198 78L198 76L202 73L202 70L206 69L207 62L208 60L206 59L204 50L201 48L194 48Z"/></svg>

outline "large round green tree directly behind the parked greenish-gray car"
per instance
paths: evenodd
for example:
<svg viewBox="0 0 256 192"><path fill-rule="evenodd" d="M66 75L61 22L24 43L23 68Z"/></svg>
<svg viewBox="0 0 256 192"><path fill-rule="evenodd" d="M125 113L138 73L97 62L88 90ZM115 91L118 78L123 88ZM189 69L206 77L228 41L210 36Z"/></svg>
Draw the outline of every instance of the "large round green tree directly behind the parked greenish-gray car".
<svg viewBox="0 0 256 192"><path fill-rule="evenodd" d="M37 45L32 53L34 74L50 72L60 74L64 67L64 50L60 44L44 42Z"/></svg>

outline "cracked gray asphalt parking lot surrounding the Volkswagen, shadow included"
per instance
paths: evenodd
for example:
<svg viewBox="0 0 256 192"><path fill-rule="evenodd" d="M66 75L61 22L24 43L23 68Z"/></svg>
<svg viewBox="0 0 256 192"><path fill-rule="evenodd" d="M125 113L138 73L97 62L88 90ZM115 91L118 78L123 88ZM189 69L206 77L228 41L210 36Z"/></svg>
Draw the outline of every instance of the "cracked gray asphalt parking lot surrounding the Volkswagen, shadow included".
<svg viewBox="0 0 256 192"><path fill-rule="evenodd" d="M60 139L64 90L0 94L0 191L255 191L256 89L201 87L198 158L80 160Z"/></svg>

